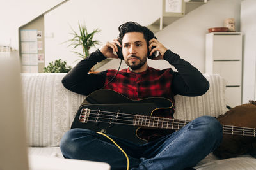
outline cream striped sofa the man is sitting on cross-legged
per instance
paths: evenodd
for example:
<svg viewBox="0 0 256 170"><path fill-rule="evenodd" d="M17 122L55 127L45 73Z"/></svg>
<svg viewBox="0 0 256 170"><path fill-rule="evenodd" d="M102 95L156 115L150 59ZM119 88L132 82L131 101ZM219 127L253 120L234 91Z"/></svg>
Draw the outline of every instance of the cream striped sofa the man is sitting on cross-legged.
<svg viewBox="0 0 256 170"><path fill-rule="evenodd" d="M77 108L85 96L70 92L61 84L65 73L21 74L26 113L29 155L63 158L61 137L70 129ZM218 74L204 74L210 89L198 97L175 96L175 118L193 120L202 115L218 117L227 111L225 80ZM195 169L256 169L256 159L243 155L218 160L210 153Z"/></svg>

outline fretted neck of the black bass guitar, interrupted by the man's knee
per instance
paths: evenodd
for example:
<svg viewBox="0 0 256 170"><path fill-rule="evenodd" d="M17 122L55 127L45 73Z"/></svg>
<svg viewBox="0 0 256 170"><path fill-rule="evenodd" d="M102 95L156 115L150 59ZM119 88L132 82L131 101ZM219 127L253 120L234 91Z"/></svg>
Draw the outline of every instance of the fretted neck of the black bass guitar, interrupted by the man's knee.
<svg viewBox="0 0 256 170"><path fill-rule="evenodd" d="M134 115L133 125L138 127L152 127L159 129L179 130L190 120L180 120L175 118L151 117L147 115ZM256 136L256 129L249 127L237 127L234 125L222 125L223 134L239 135L239 136Z"/></svg>

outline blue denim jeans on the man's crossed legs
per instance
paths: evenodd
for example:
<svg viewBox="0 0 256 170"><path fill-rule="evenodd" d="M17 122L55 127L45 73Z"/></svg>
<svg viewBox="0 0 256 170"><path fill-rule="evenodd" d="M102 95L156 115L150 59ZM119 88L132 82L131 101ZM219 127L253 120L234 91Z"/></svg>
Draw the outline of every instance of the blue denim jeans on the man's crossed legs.
<svg viewBox="0 0 256 170"><path fill-rule="evenodd" d="M222 126L214 117L203 116L179 131L138 145L109 135L127 153L130 168L185 169L195 166L211 153L222 139ZM127 160L106 136L87 129L71 129L62 138L65 158L108 162L111 169L126 169Z"/></svg>

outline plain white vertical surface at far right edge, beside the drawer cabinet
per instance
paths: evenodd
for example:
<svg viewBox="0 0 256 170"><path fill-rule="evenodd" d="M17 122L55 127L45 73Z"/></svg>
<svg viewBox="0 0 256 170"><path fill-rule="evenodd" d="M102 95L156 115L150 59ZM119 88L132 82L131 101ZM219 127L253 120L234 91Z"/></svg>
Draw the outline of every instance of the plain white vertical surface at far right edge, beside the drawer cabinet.
<svg viewBox="0 0 256 170"><path fill-rule="evenodd" d="M243 31L243 103L256 99L256 1L241 3L241 31Z"/></svg>

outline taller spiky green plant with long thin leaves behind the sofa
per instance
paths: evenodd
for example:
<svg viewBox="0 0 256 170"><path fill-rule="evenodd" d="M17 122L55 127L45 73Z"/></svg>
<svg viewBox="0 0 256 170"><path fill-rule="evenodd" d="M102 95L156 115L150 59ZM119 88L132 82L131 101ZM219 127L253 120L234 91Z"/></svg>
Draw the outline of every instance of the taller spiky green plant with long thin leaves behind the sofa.
<svg viewBox="0 0 256 170"><path fill-rule="evenodd" d="M93 36L97 33L100 32L99 29L94 29L92 32L88 33L85 24L81 25L78 23L79 26L79 32L77 33L76 31L74 31L74 29L72 29L72 39L69 39L68 41L70 41L70 45L68 46L74 46L73 48L77 48L77 46L81 46L83 49L83 53L79 53L79 52L74 52L77 53L78 57L81 57L82 59L85 59L86 57L88 57L88 55L90 55L89 50L92 46L95 45L100 45L100 42L97 40L93 40ZM66 41L66 42L68 42Z"/></svg>

